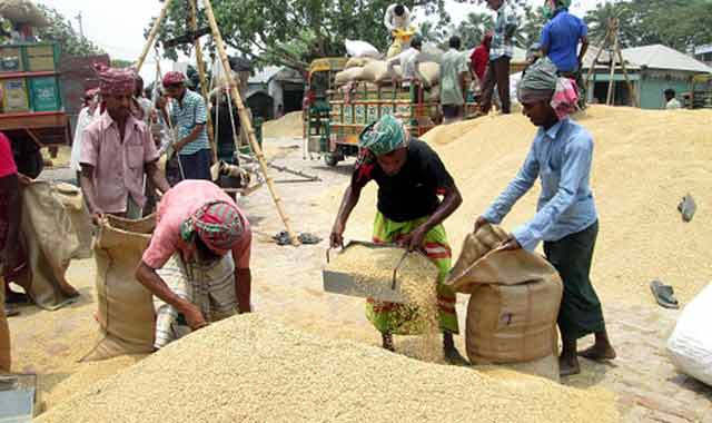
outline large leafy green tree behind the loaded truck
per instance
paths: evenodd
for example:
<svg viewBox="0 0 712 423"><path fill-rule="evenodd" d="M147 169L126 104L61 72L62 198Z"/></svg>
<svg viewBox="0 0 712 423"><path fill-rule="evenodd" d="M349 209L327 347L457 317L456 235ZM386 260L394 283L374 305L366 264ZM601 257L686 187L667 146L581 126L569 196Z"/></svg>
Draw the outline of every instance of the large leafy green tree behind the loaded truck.
<svg viewBox="0 0 712 423"><path fill-rule="evenodd" d="M190 1L190 0L187 0ZM418 8L447 23L449 17L445 0L404 1L408 8ZM260 65L279 65L306 70L318 57L343 56L346 39L373 43L380 51L389 45L389 35L383 17L390 0L214 0L218 26L228 47ZM198 0L198 3L201 3ZM186 32L186 0L172 3L161 27L159 40L165 41ZM207 24L204 12L198 16L199 27ZM151 22L152 24L152 22ZM146 31L148 33L148 29ZM431 33L432 35L432 33ZM206 38L208 51L214 51L211 38ZM177 52L190 53L192 45L167 49L164 55L177 59Z"/></svg>

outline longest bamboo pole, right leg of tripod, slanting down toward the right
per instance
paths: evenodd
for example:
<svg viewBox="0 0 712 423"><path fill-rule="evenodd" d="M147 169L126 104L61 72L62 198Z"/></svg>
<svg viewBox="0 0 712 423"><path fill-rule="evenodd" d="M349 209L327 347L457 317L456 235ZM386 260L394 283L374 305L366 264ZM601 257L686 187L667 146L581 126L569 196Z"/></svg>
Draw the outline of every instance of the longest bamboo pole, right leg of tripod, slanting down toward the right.
<svg viewBox="0 0 712 423"><path fill-rule="evenodd" d="M212 12L212 6L210 4L210 0L202 0L205 4L205 13L208 18L208 22L210 23L210 29L212 30L212 37L215 38L215 45L218 48L218 53L220 56L220 60L222 62L222 68L225 69L225 73L227 76L227 80L230 85L230 94L233 95L233 102L235 107L237 107L237 112L240 118L240 126L245 128L247 132L250 146L253 147L253 151L255 151L255 156L259 161L259 167L265 175L265 180L267 181L267 187L269 188L269 193L271 194L271 198L275 201L275 206L277 207L277 212L279 213L279 217L281 217L281 222L285 224L285 229L287 234L289 234L289 238L291 239L291 244L294 246L299 245L299 238L291 230L291 226L289 225L289 217L284 209L283 200L277 193L277 188L275 187L274 180L267 174L267 161L265 160L265 155L263 154L263 149L259 147L257 142L257 138L255 137L255 128L253 128L253 122L249 120L249 116L247 110L245 109L245 105L243 104L243 98L240 97L239 90L237 89L237 83L233 78L233 72L229 71L230 63L227 58L227 51L225 50L225 42L222 41L222 36L220 35L220 29L218 28L218 23L215 20L215 14ZM236 146L238 147L238 146Z"/></svg>

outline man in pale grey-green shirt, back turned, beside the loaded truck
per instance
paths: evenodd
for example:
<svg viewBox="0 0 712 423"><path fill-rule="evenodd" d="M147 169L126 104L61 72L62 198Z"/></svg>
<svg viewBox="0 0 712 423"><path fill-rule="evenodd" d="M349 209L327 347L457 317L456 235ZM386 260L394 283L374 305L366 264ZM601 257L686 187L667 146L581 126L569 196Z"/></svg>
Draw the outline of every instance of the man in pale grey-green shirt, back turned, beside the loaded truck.
<svg viewBox="0 0 712 423"><path fill-rule="evenodd" d="M459 37L449 39L449 50L441 61L441 106L444 124L452 124L463 118L463 106L467 99L465 72L467 72L467 55L459 51Z"/></svg>

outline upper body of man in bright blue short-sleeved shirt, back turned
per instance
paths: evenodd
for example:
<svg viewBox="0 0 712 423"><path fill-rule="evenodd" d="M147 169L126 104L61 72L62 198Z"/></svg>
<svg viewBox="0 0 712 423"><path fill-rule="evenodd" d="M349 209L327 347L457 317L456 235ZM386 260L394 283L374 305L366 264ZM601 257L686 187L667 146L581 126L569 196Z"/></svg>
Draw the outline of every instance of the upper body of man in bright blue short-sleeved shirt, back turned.
<svg viewBox="0 0 712 423"><path fill-rule="evenodd" d="M542 52L560 72L576 72L589 50L589 29L581 18L568 13L567 0L552 0L552 19L542 31ZM578 41L581 51L577 52Z"/></svg>

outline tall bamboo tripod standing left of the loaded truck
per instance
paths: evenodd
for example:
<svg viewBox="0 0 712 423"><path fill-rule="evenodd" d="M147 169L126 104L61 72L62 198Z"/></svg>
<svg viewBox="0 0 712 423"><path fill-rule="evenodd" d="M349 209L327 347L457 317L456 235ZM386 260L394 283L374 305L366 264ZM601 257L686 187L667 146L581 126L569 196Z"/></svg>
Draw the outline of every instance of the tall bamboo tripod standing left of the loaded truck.
<svg viewBox="0 0 712 423"><path fill-rule="evenodd" d="M191 14L192 14L190 24L195 29L195 27L197 27L197 17L196 17L197 0L188 0L188 1L191 4ZM148 51L150 50L150 48L154 46L154 42L156 41L158 29L160 28L164 20L166 19L166 14L168 14L168 8L170 7L170 3L171 3L171 0L166 0L166 3L164 4L164 9L160 12L160 16L156 20L156 22L154 22L154 28L151 29L148 36L148 40L146 40L144 52L139 57L139 60L137 63L137 68L139 70L144 65L144 61L146 60L146 56L148 55ZM210 24L212 39L215 40L215 45L218 49L218 55L220 57L220 62L222 63L222 69L225 70L227 81L230 86L230 97L231 97L233 104L237 108L238 117L240 119L240 125L243 128L245 128L245 132L247 134L247 139L249 140L250 147L255 153L255 157L257 158L257 161L259 163L259 167L263 171L263 175L265 176L265 181L267 183L267 187L269 188L269 194L271 195L271 198L275 203L275 207L277 208L277 213L279 214L279 217L281 218L281 222L285 225L285 229L287 230L287 234L289 234L291 244L294 246L298 246L299 238L291 230L291 225L290 225L291 220L289 219L289 216L287 216L287 213L284 209L284 203L281 200L281 197L279 197L279 194L277 193L277 188L275 187L275 183L273 178L270 178L269 175L267 174L267 161L265 160L265 155L263 153L261 147L257 142L257 137L255 136L255 128L253 127L253 122L249 119L247 109L243 104L243 98L240 97L239 90L237 89L237 82L235 82L235 78L233 77L233 72L230 71L230 63L228 60L227 51L225 49L225 41L222 40L222 36L220 35L220 29L218 28L218 23L215 19L215 13L212 12L212 6L210 4L210 0L202 0L202 3L205 6L205 13L206 13L206 17L208 18L208 23ZM194 19L196 19L195 22L194 22ZM196 40L196 56L198 58L198 72L200 73L200 78L201 78L200 85L202 86L202 89L204 89L204 96L206 96L207 85L202 80L205 78L205 69L200 71L200 69L202 68L202 60L200 59L202 55L200 53L200 56L198 56L197 53L198 51L200 51L200 43L199 41ZM237 145L235 147L239 148L239 146ZM217 148L214 151L217 151Z"/></svg>

